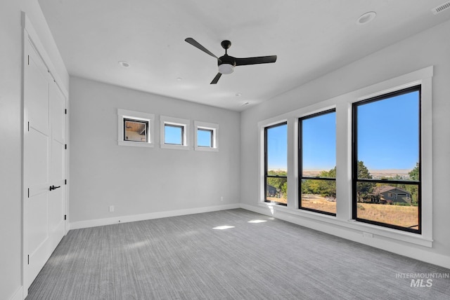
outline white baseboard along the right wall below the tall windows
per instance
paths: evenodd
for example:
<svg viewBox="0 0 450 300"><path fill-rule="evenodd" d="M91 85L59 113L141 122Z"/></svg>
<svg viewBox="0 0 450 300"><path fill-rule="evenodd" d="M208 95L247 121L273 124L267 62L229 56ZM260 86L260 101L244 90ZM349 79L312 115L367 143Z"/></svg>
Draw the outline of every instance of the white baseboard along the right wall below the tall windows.
<svg viewBox="0 0 450 300"><path fill-rule="evenodd" d="M240 204L240 207L244 210L250 210L252 212L258 212L259 214L265 214L266 216L275 217L268 209L263 207L255 207L247 204ZM304 226L310 229L328 233L333 236L345 238L346 240L352 240L356 243L372 246L388 252L404 255L405 257L411 257L419 261L425 261L429 264L435 264L444 268L450 268L450 257L431 252L428 247L421 247L419 245L406 245L405 243L397 242L390 238L384 238L383 236L377 236L376 238L363 238L361 232L349 230L340 226L332 226L321 221L311 221L310 219L298 217L295 214L289 214L288 212L276 212L276 219L288 221L293 224Z"/></svg>

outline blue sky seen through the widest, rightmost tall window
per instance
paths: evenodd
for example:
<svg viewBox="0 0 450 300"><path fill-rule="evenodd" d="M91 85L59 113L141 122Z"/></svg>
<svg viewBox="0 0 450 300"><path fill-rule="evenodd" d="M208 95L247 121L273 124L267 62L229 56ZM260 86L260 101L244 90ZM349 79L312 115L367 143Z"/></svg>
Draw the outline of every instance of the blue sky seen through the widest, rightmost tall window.
<svg viewBox="0 0 450 300"><path fill-rule="evenodd" d="M358 159L369 170L418 163L418 92L358 107Z"/></svg>

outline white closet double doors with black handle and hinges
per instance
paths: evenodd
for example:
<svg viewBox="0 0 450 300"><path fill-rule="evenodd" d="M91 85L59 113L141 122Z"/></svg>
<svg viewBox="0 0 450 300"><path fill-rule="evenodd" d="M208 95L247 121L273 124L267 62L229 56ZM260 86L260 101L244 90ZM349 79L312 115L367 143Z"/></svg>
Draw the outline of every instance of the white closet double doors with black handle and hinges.
<svg viewBox="0 0 450 300"><path fill-rule="evenodd" d="M24 58L23 238L27 289L65 231L65 97L29 41Z"/></svg>

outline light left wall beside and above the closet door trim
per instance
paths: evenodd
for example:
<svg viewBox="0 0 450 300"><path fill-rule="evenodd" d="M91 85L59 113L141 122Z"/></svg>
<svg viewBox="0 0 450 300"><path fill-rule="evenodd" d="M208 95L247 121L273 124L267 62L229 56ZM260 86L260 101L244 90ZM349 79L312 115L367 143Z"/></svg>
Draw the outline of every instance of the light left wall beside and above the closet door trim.
<svg viewBox="0 0 450 300"><path fill-rule="evenodd" d="M65 88L69 75L37 1L2 0L0 4L0 299L20 298L22 259L22 18L34 25Z"/></svg>

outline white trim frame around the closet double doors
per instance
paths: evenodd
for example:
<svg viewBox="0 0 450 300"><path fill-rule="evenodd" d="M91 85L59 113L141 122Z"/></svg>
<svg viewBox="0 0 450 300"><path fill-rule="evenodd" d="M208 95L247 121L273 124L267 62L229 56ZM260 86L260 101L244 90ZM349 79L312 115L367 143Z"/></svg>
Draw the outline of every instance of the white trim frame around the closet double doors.
<svg viewBox="0 0 450 300"><path fill-rule="evenodd" d="M27 186L25 185L25 130L27 130L27 116L25 111L25 65L27 64L27 48L28 43L30 43L30 46L36 50L38 55L41 57L41 60L46 65L47 69L49 70L49 74L51 77L53 77L53 80L55 81L56 85L58 86L61 93L63 93L63 96L65 97L65 107L69 107L69 93L68 90L65 88L63 81L60 79L60 76L58 76L58 73L56 71L56 68L53 66L53 63L51 62L51 57L46 53L46 50L44 48L44 45L41 43L39 39L39 35L37 34L36 30L34 29L30 18L27 17L26 13L22 12L22 27L23 27L23 50L22 50L22 56L23 56L23 65L22 65L22 100L21 100L21 124L22 128L20 130L21 132L21 157L22 157L22 274L21 274L21 282L22 282L22 299L25 299L25 297L28 295L28 286L26 285L26 279L27 279L27 225L25 224L25 200L27 199ZM66 144L69 144L69 114L66 114L65 117L65 142ZM65 152L65 178L67 179L67 184L65 186L65 203L64 210L65 215L68 216L69 212L69 186L70 186L70 179L69 179L69 158L70 158L70 150L69 147ZM64 222L64 236L68 233L70 230L69 226L69 217L65 219Z"/></svg>

